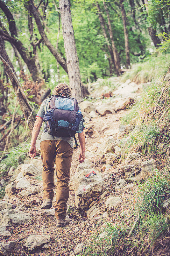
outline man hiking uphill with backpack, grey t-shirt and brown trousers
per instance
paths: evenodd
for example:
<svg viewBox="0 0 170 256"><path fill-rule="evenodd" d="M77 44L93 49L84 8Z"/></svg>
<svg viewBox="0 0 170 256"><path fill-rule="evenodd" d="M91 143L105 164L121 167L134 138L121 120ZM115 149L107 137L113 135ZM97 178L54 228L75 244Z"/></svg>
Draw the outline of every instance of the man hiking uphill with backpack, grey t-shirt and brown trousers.
<svg viewBox="0 0 170 256"><path fill-rule="evenodd" d="M57 227L63 227L70 222L68 215L66 215L66 210L69 197L68 181L73 155L73 136L78 132L80 142L79 163L83 163L86 158L85 132L83 130L81 110L77 100L70 98L71 90L69 85L66 83L58 84L53 90L53 95L44 100L39 108L32 130L29 156L31 158L36 156L35 144L44 120L45 125L40 140L44 191L41 209L50 209L52 207L55 161L57 176L55 216Z"/></svg>

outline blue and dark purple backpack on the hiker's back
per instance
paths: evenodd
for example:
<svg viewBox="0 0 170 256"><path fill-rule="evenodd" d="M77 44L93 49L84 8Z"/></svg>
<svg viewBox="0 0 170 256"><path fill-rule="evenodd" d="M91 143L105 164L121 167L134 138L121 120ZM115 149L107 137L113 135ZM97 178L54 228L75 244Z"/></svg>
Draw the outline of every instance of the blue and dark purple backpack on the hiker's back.
<svg viewBox="0 0 170 256"><path fill-rule="evenodd" d="M73 137L79 131L82 117L75 98L53 95L43 120L46 123L46 131L54 139L54 136Z"/></svg>

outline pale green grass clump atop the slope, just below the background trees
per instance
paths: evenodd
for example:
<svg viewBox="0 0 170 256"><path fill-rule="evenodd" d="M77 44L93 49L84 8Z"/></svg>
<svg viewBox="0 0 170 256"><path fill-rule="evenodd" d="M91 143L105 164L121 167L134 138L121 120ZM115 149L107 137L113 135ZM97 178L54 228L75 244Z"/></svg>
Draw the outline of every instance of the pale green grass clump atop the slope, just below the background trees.
<svg viewBox="0 0 170 256"><path fill-rule="evenodd" d="M131 79L131 81L141 84L158 78L165 72L165 63L170 62L170 54L165 55L156 52L155 55L151 55L143 63L135 64L131 71L123 74L121 81L125 82L127 79Z"/></svg>

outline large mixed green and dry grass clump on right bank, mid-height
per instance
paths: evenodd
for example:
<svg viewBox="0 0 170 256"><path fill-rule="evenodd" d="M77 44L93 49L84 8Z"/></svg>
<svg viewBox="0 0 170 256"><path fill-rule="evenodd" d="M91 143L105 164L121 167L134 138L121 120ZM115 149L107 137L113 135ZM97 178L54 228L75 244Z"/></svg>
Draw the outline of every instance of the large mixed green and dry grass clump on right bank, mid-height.
<svg viewBox="0 0 170 256"><path fill-rule="evenodd" d="M167 70L167 69L166 69ZM140 152L158 159L161 165L170 163L170 86L166 81L152 82L143 88L143 94L122 124L132 124L126 153Z"/></svg>

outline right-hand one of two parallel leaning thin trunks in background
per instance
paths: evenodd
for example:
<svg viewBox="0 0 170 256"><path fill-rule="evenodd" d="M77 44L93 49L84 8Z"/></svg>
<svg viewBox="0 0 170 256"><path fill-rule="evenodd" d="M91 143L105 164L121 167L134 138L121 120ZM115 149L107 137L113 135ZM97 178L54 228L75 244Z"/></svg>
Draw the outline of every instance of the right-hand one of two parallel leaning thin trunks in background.
<svg viewBox="0 0 170 256"><path fill-rule="evenodd" d="M103 1L103 5L104 5L104 9L105 9L106 14L107 14L107 20L108 20L108 25L109 25L109 36L110 36L110 40L111 40L111 45L112 45L112 50L113 50L113 55L114 55L117 75L120 75L121 67L120 67L119 54L117 52L117 48L116 48L115 42L113 40L113 33L112 33L112 29L111 29L111 22L110 22L109 11L108 11L107 5L106 5L106 3L104 1Z"/></svg>

